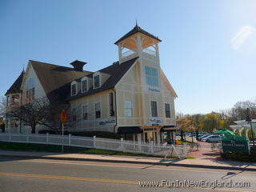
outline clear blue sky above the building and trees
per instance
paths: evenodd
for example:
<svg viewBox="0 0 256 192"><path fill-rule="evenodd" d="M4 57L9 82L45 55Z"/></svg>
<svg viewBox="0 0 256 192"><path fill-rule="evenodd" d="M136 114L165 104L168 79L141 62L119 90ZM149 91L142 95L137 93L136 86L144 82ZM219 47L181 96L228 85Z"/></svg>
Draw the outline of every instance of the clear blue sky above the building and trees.
<svg viewBox="0 0 256 192"><path fill-rule="evenodd" d="M0 95L29 59L99 70L118 60L114 42L138 25L162 39L162 69L176 111L208 113L256 99L256 2L0 1Z"/></svg>

